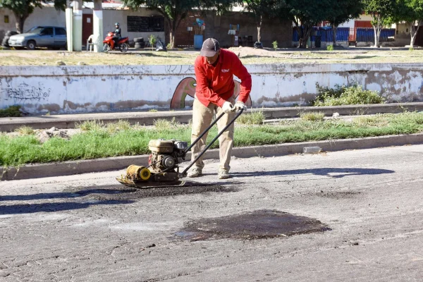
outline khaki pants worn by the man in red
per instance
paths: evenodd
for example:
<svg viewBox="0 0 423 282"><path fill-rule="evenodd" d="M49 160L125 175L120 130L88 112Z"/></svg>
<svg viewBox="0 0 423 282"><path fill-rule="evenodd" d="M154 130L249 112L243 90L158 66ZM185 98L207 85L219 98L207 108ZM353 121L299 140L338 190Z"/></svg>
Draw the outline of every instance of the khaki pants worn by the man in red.
<svg viewBox="0 0 423 282"><path fill-rule="evenodd" d="M232 104L235 103L234 99L229 99L228 102ZM222 109L215 104L210 103L209 106L204 106L200 101L195 97L194 104L192 105L192 133L191 133L191 142L194 142L201 133L206 130L206 128L212 123L214 114L216 117L222 113ZM229 114L224 114L219 121L217 121L217 128L219 132L225 128L226 125L235 117L235 112ZM207 133L198 140L198 142L191 148L191 161L198 156L200 152L207 146ZM220 166L219 168L224 168L229 171L231 166L229 162L231 161L231 152L233 145L233 123L229 126L222 135L219 137L219 155L220 155ZM204 156L204 155L203 155ZM195 166L198 168L204 167L204 162L202 157L195 162Z"/></svg>

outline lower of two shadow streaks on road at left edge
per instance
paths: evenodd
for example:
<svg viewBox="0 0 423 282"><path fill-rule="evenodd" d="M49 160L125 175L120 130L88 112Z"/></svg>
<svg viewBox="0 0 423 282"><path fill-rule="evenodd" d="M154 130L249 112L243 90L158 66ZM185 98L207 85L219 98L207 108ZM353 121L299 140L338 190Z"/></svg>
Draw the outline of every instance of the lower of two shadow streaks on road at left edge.
<svg viewBox="0 0 423 282"><path fill-rule="evenodd" d="M13 204L0 206L0 214L33 214L35 212L61 212L71 209L85 209L100 204L130 204L134 201L91 201L91 202L59 202L43 204Z"/></svg>

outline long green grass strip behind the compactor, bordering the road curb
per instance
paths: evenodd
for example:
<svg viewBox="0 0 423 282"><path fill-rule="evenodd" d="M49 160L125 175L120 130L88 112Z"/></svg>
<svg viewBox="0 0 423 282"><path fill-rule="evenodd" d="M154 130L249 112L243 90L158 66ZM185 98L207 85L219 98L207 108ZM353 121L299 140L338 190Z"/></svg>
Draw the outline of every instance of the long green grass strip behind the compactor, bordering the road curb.
<svg viewBox="0 0 423 282"><path fill-rule="evenodd" d="M155 126L127 126L108 130L111 125L92 126L90 130L73 135L70 140L53 137L40 144L35 135L11 137L0 134L0 165L20 166L29 163L68 161L147 154L152 139L177 139L190 142L190 125L175 121L158 120ZM117 127L117 125L116 125ZM381 114L360 116L352 121L342 118L325 121L304 119L286 120L269 125L235 125L234 146L271 145L284 142L333 140L379 135L421 133L423 113ZM209 132L208 140L217 134L216 127ZM216 148L216 142L212 147Z"/></svg>

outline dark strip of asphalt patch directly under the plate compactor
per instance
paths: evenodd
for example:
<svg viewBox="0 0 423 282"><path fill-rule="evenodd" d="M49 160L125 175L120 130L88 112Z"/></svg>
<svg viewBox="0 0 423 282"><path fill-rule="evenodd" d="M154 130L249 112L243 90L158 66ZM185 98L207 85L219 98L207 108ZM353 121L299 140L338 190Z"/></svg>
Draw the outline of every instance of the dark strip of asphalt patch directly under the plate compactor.
<svg viewBox="0 0 423 282"><path fill-rule="evenodd" d="M161 188L132 188L124 185L102 185L89 188L71 188L72 192L80 197L88 197L94 200L139 200L149 197L169 197L176 195L200 194L207 192L237 192L238 189L228 185L201 185L201 186L178 186ZM78 197L78 196L77 196Z"/></svg>

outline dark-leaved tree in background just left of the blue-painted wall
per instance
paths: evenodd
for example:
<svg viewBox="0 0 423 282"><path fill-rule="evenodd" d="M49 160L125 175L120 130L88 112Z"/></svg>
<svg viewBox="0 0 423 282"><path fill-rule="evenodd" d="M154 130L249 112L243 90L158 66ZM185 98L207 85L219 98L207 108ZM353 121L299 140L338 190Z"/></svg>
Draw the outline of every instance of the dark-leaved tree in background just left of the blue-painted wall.
<svg viewBox="0 0 423 282"><path fill-rule="evenodd" d="M313 26L329 16L330 7L337 0L279 0L277 13L295 24L300 37L300 48L307 47Z"/></svg>

